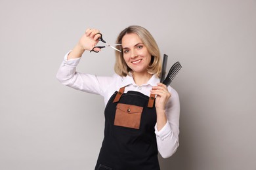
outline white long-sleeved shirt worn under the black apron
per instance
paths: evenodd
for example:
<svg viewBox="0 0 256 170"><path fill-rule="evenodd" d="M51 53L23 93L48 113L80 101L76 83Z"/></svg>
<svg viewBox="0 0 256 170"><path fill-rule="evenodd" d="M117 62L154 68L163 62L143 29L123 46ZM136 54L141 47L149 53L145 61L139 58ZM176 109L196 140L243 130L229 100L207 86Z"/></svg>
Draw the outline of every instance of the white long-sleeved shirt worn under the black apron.
<svg viewBox="0 0 256 170"><path fill-rule="evenodd" d="M67 60L67 56L68 54L64 57L56 75L58 80L76 90L102 95L105 107L113 93L121 87L125 86L125 92L137 91L150 96L152 86L157 86L157 83L160 82L160 79L155 75L150 78L148 83L138 86L132 75L123 77L116 74L113 76L96 76L78 73L76 67L81 58ZM163 158L173 155L179 146L179 95L171 86L168 86L168 90L171 97L165 107L167 123L160 131L155 126L158 151Z"/></svg>

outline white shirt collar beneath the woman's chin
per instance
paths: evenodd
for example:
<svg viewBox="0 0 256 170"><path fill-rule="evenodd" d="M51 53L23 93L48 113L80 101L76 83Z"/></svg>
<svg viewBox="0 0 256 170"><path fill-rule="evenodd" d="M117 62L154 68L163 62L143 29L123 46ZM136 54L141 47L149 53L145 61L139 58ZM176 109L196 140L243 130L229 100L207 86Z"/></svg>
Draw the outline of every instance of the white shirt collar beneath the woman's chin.
<svg viewBox="0 0 256 170"><path fill-rule="evenodd" d="M142 84L142 86L157 86L158 82L160 82L160 78L158 76L153 75L150 80L146 84ZM123 77L123 82L121 82L121 86L125 87L128 86L129 84L133 84L133 86L138 86L135 81L133 80L133 75L129 74L125 77Z"/></svg>

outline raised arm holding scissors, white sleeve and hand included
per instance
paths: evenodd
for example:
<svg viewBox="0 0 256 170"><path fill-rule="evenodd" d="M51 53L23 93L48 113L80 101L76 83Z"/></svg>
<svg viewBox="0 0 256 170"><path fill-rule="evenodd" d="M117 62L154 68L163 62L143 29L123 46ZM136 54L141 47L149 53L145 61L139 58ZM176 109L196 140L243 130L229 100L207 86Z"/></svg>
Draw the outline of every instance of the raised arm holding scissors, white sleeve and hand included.
<svg viewBox="0 0 256 170"><path fill-rule="evenodd" d="M98 32L96 29L87 29L85 35L81 37L74 49L66 54L56 75L56 78L62 84L75 88L76 90L100 95L106 89L106 84L110 84L112 77L95 76L76 71L83 52L96 45L98 37L95 34Z"/></svg>

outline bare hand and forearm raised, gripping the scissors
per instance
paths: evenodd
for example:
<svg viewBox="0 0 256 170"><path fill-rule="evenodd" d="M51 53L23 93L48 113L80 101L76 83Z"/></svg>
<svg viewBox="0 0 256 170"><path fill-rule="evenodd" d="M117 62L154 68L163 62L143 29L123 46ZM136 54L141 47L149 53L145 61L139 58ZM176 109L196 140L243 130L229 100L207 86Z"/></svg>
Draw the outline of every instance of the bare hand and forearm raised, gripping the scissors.
<svg viewBox="0 0 256 170"><path fill-rule="evenodd" d="M100 38L100 35L97 33L100 33L98 29L86 29L85 34L79 39L72 52L68 54L67 59L80 58L85 50L91 51ZM95 50L100 51L100 48L95 48Z"/></svg>

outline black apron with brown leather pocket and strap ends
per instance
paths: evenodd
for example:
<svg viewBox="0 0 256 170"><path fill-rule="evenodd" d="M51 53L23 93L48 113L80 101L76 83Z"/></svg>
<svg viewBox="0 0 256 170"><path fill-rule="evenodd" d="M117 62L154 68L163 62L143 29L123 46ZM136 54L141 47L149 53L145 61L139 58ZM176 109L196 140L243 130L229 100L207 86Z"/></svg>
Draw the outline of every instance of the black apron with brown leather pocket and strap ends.
<svg viewBox="0 0 256 170"><path fill-rule="evenodd" d="M105 108L104 140L95 170L160 170L154 95L115 92Z"/></svg>

